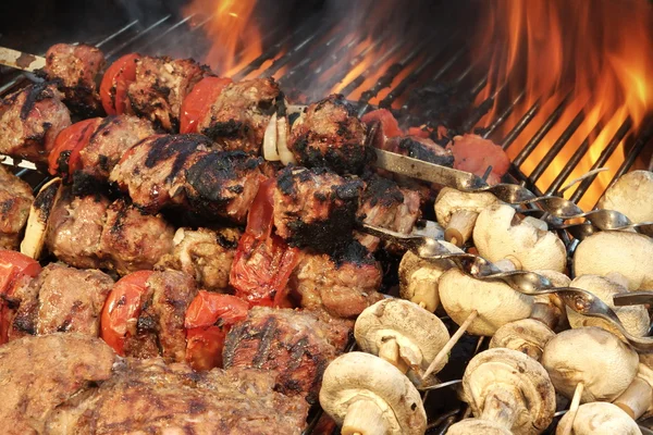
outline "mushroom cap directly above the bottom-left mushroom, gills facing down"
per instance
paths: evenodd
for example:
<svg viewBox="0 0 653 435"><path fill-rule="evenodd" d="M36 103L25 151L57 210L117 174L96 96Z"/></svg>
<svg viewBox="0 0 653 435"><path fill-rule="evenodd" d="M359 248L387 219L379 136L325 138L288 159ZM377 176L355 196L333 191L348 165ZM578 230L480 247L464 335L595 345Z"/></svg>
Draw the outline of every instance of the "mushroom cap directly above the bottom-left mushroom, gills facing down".
<svg viewBox="0 0 653 435"><path fill-rule="evenodd" d="M449 334L435 314L404 299L383 299L366 308L354 326L354 337L365 352L379 355L389 339L395 338L399 355L418 372L426 371L446 345ZM436 371L442 370L447 359Z"/></svg>

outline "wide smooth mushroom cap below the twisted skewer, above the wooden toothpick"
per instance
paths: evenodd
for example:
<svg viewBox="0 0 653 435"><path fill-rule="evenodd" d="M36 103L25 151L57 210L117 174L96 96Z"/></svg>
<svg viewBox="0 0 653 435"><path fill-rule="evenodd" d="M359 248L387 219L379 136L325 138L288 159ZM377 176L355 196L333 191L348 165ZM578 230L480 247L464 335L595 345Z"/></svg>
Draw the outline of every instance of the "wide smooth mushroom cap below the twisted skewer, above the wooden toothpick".
<svg viewBox="0 0 653 435"><path fill-rule="evenodd" d="M477 310L479 315L467 332L492 336L508 322L526 319L533 308L533 297L514 290L507 284L472 278L458 269L449 269L438 285L442 307L457 324Z"/></svg>

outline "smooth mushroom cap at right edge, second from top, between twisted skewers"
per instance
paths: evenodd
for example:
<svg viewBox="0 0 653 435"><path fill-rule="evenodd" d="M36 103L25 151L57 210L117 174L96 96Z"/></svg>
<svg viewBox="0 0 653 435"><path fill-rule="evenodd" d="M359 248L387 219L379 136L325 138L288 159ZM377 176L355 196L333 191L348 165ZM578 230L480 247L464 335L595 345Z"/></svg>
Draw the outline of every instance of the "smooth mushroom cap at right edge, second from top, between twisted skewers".
<svg viewBox="0 0 653 435"><path fill-rule="evenodd" d="M576 248L576 276L619 273L628 279L628 289L653 287L653 239L629 232L599 232Z"/></svg>

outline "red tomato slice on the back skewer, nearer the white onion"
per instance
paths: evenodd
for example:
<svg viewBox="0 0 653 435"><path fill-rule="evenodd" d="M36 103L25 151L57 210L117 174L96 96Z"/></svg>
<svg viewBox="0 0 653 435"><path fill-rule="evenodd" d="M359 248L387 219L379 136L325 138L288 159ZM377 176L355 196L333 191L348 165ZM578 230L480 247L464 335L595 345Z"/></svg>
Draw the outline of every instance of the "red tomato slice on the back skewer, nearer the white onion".
<svg viewBox="0 0 653 435"><path fill-rule="evenodd" d="M182 102L180 133L198 133L197 123L211 109L222 89L232 83L231 78L205 77L193 86Z"/></svg>

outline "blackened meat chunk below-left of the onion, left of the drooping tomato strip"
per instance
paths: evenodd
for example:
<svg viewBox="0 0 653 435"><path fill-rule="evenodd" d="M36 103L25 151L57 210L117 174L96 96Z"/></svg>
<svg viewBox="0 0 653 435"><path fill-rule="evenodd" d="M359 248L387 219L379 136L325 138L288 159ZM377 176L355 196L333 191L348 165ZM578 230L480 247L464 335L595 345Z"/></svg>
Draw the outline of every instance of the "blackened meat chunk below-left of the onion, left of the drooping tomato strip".
<svg viewBox="0 0 653 435"><path fill-rule="evenodd" d="M198 153L186 171L190 208L243 224L263 178L261 159L243 151Z"/></svg>

